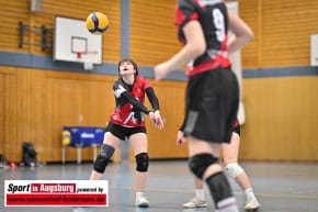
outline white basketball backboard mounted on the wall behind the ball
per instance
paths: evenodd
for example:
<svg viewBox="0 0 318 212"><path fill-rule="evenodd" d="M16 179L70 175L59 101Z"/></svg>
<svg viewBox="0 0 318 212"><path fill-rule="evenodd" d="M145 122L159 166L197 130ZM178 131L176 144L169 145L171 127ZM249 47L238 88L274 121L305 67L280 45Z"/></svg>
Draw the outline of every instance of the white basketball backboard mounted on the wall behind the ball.
<svg viewBox="0 0 318 212"><path fill-rule="evenodd" d="M54 60L102 64L103 36L89 33L84 20L56 16ZM86 68L87 69L87 68Z"/></svg>

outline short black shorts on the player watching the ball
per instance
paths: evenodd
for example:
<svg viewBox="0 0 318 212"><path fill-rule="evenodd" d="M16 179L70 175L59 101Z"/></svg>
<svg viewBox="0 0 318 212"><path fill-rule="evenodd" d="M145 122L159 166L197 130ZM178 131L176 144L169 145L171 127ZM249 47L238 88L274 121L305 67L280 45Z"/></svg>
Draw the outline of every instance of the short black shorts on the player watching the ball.
<svg viewBox="0 0 318 212"><path fill-rule="evenodd" d="M144 126L125 127L120 124L114 124L110 122L106 127L106 132L110 132L116 137L118 137L120 140L124 141L126 137L129 137L130 135L136 134L136 133L146 134L146 127Z"/></svg>

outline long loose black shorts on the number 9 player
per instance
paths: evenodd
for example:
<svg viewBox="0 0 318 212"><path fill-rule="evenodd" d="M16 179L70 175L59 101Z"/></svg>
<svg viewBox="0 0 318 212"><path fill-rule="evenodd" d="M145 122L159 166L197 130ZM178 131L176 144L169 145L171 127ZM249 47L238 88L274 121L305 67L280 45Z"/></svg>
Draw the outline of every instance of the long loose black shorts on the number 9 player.
<svg viewBox="0 0 318 212"><path fill-rule="evenodd" d="M228 68L217 68L189 79L184 135L211 143L228 143L237 119L239 85Z"/></svg>

